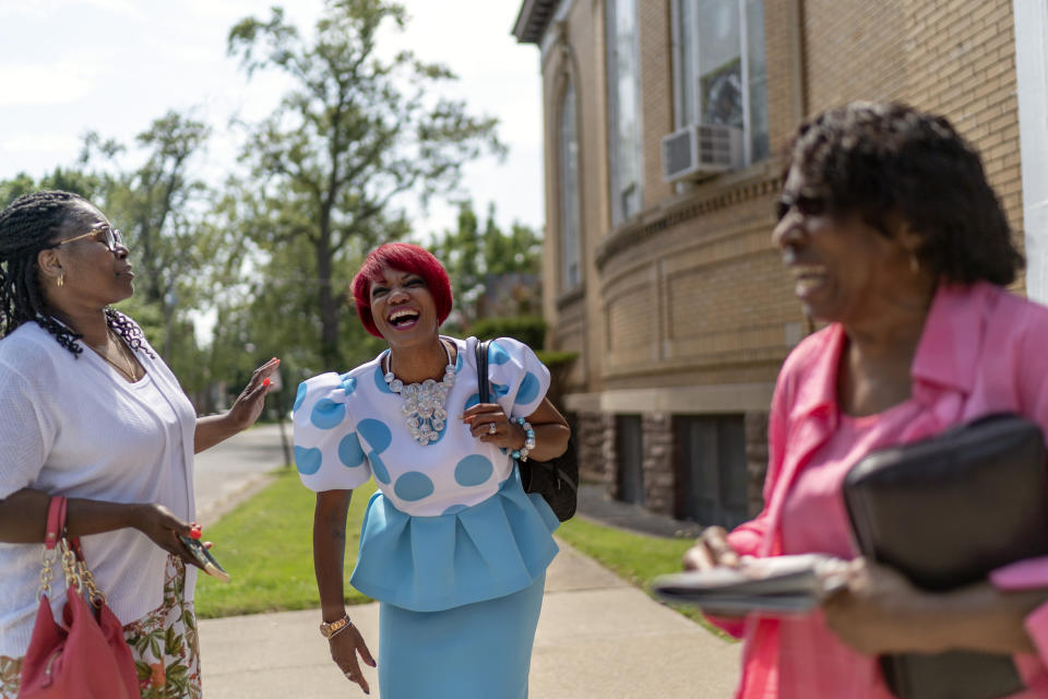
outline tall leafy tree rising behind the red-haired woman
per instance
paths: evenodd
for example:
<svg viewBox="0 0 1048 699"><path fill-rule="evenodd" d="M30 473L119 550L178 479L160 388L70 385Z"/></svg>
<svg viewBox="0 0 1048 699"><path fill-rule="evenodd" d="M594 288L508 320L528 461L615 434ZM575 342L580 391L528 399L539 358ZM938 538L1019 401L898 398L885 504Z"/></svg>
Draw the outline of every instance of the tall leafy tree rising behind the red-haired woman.
<svg viewBox="0 0 1048 699"><path fill-rule="evenodd" d="M319 321L325 368L345 359L340 312L348 289L336 269L405 230L395 209L403 196L425 203L453 191L465 163L503 152L495 119L430 94L454 79L446 68L409 51L380 55L380 29L403 29L405 22L395 2L329 0L309 39L279 8L267 21L248 17L229 32L228 52L249 78L272 69L294 81L248 133L241 162L253 181L242 206L254 215L250 234L270 251L308 242L312 259L300 273L314 280L308 312Z"/></svg>

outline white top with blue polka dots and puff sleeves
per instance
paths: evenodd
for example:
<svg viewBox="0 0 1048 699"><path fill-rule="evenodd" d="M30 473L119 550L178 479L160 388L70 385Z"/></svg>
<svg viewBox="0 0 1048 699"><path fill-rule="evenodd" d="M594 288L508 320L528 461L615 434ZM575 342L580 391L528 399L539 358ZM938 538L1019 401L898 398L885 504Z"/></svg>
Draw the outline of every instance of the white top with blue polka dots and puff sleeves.
<svg viewBox="0 0 1048 699"><path fill-rule="evenodd" d="M513 470L498 447L473 437L462 422L478 402L476 337L455 340L455 384L440 438L419 445L402 414L404 399L390 391L382 353L346 374L302 382L294 406L295 462L310 489L356 488L371 476L398 510L417 517L453 514L490 498ZM549 388L549 370L521 342L489 345L492 400L510 417L528 416Z"/></svg>

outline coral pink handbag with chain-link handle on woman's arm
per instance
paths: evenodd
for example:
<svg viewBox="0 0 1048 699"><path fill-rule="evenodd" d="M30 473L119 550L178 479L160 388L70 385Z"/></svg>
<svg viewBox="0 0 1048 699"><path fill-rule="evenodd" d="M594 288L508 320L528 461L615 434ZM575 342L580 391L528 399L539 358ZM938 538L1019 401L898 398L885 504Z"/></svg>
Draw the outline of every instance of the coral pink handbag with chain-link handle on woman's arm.
<svg viewBox="0 0 1048 699"><path fill-rule="evenodd" d="M68 540L66 498L51 498L40 572L40 607L22 664L19 699L134 699L140 696L131 649L84 562L80 540ZM51 564L61 553L69 584L62 624L49 601ZM87 597L84 597L86 592Z"/></svg>

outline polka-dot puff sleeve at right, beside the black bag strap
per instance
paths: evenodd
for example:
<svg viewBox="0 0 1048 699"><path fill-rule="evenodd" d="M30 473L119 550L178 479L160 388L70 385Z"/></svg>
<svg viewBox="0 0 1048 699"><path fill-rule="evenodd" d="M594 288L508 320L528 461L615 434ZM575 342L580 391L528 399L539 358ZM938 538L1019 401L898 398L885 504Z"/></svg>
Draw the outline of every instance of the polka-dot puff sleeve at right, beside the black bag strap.
<svg viewBox="0 0 1048 699"><path fill-rule="evenodd" d="M549 369L531 347L512 337L499 337L488 345L488 376L492 399L510 417L534 413L549 390Z"/></svg>

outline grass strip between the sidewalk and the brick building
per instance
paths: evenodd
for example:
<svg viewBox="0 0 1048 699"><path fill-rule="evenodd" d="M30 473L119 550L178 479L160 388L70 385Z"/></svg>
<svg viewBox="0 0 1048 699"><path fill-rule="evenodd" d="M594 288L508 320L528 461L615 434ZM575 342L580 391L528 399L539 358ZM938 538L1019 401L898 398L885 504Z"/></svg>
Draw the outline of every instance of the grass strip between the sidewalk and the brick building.
<svg viewBox="0 0 1048 699"><path fill-rule="evenodd" d="M615 526L606 526L585 517L575 517L557 530L565 542L600 562L627 582L641 588L651 596L648 585L656 577L681 570L681 557L691 547L692 538L665 538L638 534ZM653 597L654 599L654 597ZM666 604L656 600L660 604ZM736 640L706 621L699 607L666 604L670 609L698 621L711 633Z"/></svg>

